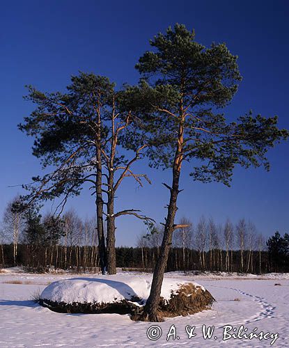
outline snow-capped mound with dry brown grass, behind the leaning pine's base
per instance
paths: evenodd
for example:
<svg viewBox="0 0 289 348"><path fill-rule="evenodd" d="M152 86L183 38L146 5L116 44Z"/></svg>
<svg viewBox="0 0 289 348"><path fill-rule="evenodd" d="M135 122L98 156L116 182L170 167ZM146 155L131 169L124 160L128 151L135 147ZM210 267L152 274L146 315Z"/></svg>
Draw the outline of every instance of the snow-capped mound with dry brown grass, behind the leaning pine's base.
<svg viewBox="0 0 289 348"><path fill-rule="evenodd" d="M40 304L62 313L118 313L141 319L150 294L151 276L97 276L58 280L40 295ZM188 315L209 309L214 298L197 283L164 278L159 317Z"/></svg>

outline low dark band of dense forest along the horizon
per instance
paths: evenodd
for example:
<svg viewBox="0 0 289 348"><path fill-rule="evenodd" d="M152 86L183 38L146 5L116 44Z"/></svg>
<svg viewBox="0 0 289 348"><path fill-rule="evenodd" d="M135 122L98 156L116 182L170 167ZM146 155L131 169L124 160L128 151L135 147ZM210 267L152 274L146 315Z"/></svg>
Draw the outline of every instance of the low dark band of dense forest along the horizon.
<svg viewBox="0 0 289 348"><path fill-rule="evenodd" d="M58 245L55 248L39 247L31 250L31 246L19 244L17 264L27 271L45 272L49 269L69 269L76 272L98 272L100 264L98 248L93 246L72 246L66 248ZM127 271L153 271L159 255L159 248L148 247L116 247L116 264ZM185 249L185 262L182 248L171 248L166 271L226 271L226 251L214 251L212 267L210 267L210 251L205 251L205 267L200 262L199 252ZM2 244L0 264L13 266L13 244ZM244 261L250 262L249 273L260 274L272 271L289 272L288 258L283 264L276 264L268 251L245 251ZM240 251L232 251L229 272L240 272Z"/></svg>

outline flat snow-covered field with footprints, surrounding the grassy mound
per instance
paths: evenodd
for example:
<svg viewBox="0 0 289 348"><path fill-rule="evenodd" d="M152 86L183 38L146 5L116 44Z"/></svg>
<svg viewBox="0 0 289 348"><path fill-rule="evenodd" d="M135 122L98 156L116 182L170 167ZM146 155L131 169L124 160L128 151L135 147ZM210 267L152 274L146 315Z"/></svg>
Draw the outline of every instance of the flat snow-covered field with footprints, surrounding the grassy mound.
<svg viewBox="0 0 289 348"><path fill-rule="evenodd" d="M95 275L102 278L100 275ZM151 275L136 274L150 281ZM270 277L272 277L270 279ZM220 276L203 274L194 276L173 272L165 280L171 284L182 282L201 283L217 299L212 310L166 319L162 323L133 322L128 315L100 314L82 315L54 313L31 301L37 291L43 291L47 284L71 278L68 274L0 274L0 347L270 347L273 338L259 340L222 340L224 325L234 328L244 325L247 332L279 333L273 347L289 347L289 276L274 274L263 276ZM79 275L76 278L93 278L93 275ZM116 281L133 285L132 274L117 274ZM262 278L262 279L260 279ZM108 278L107 278L108 279ZM12 282L21 281L22 284ZM93 281L93 280L88 280ZM10 283L9 283L10 282ZM281 286L274 284L280 283ZM144 285L145 287L145 285ZM134 290L136 292L143 290ZM234 301L239 300L239 301ZM147 331L157 324L162 329L158 340L149 340ZM202 326L214 326L214 335L204 340ZM179 340L169 337L174 325ZM195 337L189 338L189 326ZM187 330L186 330L187 328ZM150 331L149 331L150 332ZM214 336L217 339L214 339ZM269 335L268 335L269 337Z"/></svg>

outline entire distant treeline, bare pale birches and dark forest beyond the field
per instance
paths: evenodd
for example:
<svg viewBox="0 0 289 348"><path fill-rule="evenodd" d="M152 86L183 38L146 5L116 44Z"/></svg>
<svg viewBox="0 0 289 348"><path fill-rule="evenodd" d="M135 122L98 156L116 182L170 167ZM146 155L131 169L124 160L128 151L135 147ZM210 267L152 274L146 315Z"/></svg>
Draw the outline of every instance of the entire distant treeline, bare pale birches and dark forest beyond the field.
<svg viewBox="0 0 289 348"><path fill-rule="evenodd" d="M100 251L95 219L80 219L74 210L61 219L42 216L38 209L18 215L8 204L0 232L0 264L23 265L31 271L73 269L98 271ZM266 242L252 221L230 219L217 224L201 216L193 225L180 219L173 234L166 271L227 271L262 274L289 271L289 237L279 232ZM116 266L153 271L159 258L164 229L150 226L139 235L136 248L116 248Z"/></svg>

